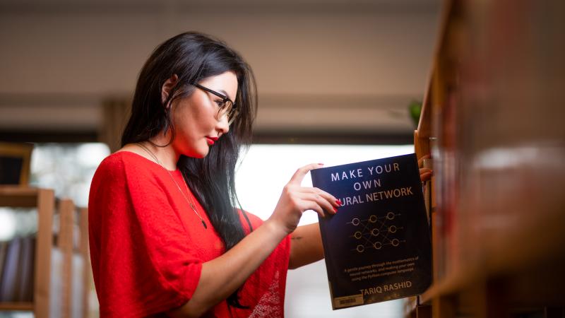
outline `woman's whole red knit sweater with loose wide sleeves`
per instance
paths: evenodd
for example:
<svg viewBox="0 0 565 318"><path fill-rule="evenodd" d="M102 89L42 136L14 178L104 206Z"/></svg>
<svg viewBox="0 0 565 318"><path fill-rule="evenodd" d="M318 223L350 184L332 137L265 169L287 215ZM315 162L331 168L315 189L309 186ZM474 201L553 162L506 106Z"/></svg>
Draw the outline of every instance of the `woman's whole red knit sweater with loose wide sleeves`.
<svg viewBox="0 0 565 318"><path fill-rule="evenodd" d="M186 191L181 172L171 174ZM102 161L88 202L101 317L158 317L192 297L203 262L224 252L206 212L194 202L208 229L160 165L127 151ZM261 225L261 219L247 215L253 228ZM224 300L207 317L283 317L289 251L287 237L244 283L240 302L249 310Z"/></svg>

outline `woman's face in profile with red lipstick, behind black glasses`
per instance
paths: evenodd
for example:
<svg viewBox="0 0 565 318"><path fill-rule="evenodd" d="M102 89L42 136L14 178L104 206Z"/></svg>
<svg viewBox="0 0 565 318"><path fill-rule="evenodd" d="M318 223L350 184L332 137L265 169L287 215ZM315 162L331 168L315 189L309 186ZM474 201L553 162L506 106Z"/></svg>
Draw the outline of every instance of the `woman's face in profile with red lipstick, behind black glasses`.
<svg viewBox="0 0 565 318"><path fill-rule="evenodd" d="M225 95L230 100L236 98L237 77L232 71L210 76L198 84ZM195 88L189 97L174 101L175 137L172 146L177 153L204 158L210 147L227 133L230 129L227 116L217 118L218 102L222 102L222 98L200 88Z"/></svg>

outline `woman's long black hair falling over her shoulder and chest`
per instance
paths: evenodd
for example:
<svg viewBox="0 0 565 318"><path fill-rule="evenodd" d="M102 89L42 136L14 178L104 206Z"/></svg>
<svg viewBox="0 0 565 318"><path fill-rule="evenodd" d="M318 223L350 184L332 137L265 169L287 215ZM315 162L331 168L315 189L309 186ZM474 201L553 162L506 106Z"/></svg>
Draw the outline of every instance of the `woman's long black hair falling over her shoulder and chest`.
<svg viewBox="0 0 565 318"><path fill-rule="evenodd" d="M191 95L195 89L192 83L226 71L233 71L237 76L238 91L234 103L239 114L236 120L230 131L210 147L205 158L181 155L177 166L208 213L227 251L245 236L237 211L237 207L241 209L241 206L235 192L234 171L240 151L251 143L251 127L257 108L253 71L237 52L221 40L196 32L179 34L159 45L139 74L131 117L121 136L121 146L148 141L169 129L172 131L169 144L172 143L174 122L172 107L167 105L177 98ZM178 76L177 83L163 102L162 86L175 74ZM241 211L244 213L243 209ZM227 303L245 307L239 303L237 291L227 298Z"/></svg>

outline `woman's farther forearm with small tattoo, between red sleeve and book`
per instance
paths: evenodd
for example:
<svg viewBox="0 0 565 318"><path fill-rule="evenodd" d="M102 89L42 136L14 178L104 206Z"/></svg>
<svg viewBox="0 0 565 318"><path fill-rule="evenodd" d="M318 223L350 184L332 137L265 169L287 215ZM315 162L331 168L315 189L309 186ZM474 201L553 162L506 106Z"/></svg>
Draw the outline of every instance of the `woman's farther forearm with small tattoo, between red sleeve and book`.
<svg viewBox="0 0 565 318"><path fill-rule="evenodd" d="M290 235L289 269L323 259L322 237L318 223L299 226Z"/></svg>

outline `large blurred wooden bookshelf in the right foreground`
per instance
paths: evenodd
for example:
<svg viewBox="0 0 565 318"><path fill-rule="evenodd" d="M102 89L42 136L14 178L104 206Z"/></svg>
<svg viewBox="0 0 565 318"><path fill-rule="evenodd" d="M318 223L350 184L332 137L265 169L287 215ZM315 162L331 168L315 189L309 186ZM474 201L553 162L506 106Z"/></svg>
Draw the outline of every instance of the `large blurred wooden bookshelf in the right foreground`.
<svg viewBox="0 0 565 318"><path fill-rule="evenodd" d="M415 131L434 283L406 317L565 317L564 38L564 1L445 2Z"/></svg>

